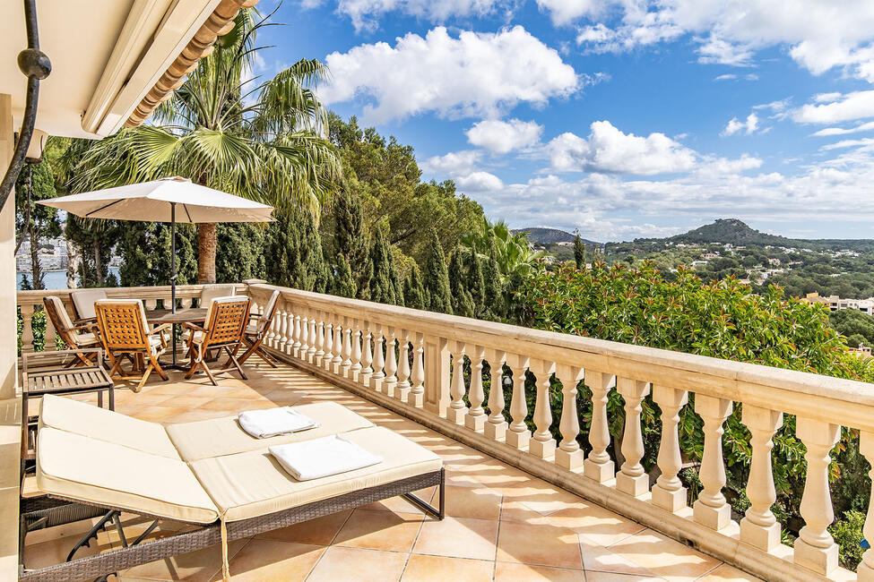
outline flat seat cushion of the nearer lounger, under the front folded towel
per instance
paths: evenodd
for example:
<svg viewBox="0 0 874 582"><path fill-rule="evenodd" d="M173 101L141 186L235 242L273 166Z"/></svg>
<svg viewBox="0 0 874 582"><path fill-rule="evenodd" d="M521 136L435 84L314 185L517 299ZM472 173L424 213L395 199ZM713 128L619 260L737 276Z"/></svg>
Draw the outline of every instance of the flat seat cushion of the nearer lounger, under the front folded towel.
<svg viewBox="0 0 874 582"><path fill-rule="evenodd" d="M190 463L203 488L229 521L254 518L344 493L437 471L437 455L386 428L345 432L344 438L385 460L348 473L297 481L266 449Z"/></svg>

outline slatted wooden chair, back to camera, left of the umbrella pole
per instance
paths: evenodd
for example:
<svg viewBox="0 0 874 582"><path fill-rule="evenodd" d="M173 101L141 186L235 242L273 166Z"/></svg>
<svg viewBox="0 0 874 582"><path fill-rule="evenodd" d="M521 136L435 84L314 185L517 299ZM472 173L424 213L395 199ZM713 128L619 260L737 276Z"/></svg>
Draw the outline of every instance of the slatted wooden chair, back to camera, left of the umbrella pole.
<svg viewBox="0 0 874 582"><path fill-rule="evenodd" d="M171 329L169 323L164 323L150 330L146 321L143 302L139 299L104 299L94 304L97 313L97 325L100 329L100 341L112 363L109 376L117 373L122 378L132 374L125 372L121 363L125 356L134 363L143 358L148 365L143 371L143 377L134 389L139 392L154 370L163 381L168 381L167 372L160 367L158 358L167 350L167 336L164 332Z"/></svg>

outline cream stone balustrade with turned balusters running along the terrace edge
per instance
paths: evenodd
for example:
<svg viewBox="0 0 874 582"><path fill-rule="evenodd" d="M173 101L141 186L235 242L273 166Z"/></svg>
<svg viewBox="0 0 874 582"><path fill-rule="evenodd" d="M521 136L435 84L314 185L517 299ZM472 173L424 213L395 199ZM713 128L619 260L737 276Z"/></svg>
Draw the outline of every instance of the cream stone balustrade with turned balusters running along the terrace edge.
<svg viewBox="0 0 874 582"><path fill-rule="evenodd" d="M834 520L829 451L842 426L861 432L861 454L874 465L874 387L870 384L257 281L249 281L246 292L260 309L276 289L280 300L264 344L290 364L760 577L858 576L874 581L874 552L865 553L857 575L841 569L837 545L827 531ZM138 296L149 304L169 296L169 287L108 292ZM43 293L19 294L24 347L29 340L26 313L32 313ZM197 286L181 287L181 301L190 302L198 293ZM30 342L32 348L32 338ZM507 372L512 378L506 377ZM526 377L533 378L536 387L529 394ZM488 393L484 379L489 379ZM578 441L580 382L591 394L585 447ZM609 430L608 404L614 392L623 401L621 442L612 442ZM560 410L554 410L550 400L556 393L563 397ZM661 410L662 424L659 471L653 482L641 462L646 452L642 402L650 395ZM751 462L746 488L750 505L737 519L723 495L722 436L726 418L739 406L741 422L750 432ZM679 478L686 456L680 448L678 423L686 407L694 407L703 421L704 450L698 471L703 488L697 499L690 499ZM808 473L800 506L805 525L794 547L781 543L781 524L771 511L772 438L785 415L796 417L796 436L807 448ZM550 431L554 418L558 439ZM608 452L616 449L621 457L614 454L613 458L621 459L620 466ZM864 533L874 539L874 504Z"/></svg>

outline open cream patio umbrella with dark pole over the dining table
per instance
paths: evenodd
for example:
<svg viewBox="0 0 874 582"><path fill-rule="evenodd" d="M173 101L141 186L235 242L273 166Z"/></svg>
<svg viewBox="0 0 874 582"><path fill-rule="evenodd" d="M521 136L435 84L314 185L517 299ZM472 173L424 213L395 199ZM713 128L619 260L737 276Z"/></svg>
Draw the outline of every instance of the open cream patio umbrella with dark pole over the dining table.
<svg viewBox="0 0 874 582"><path fill-rule="evenodd" d="M170 223L170 306L176 312L176 224L201 222L270 222L272 206L193 184L178 176L70 194L38 204L82 218ZM175 339L175 336L174 336ZM174 350L173 359L176 359Z"/></svg>

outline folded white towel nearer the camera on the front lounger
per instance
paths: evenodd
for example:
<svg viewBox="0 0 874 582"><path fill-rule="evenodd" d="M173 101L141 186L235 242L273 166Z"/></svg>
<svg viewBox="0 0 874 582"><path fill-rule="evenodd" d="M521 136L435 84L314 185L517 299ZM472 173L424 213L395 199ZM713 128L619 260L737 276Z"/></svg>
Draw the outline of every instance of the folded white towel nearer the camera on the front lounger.
<svg viewBox="0 0 874 582"><path fill-rule="evenodd" d="M270 454L298 481L318 479L381 463L383 458L334 434L311 441L270 447Z"/></svg>

